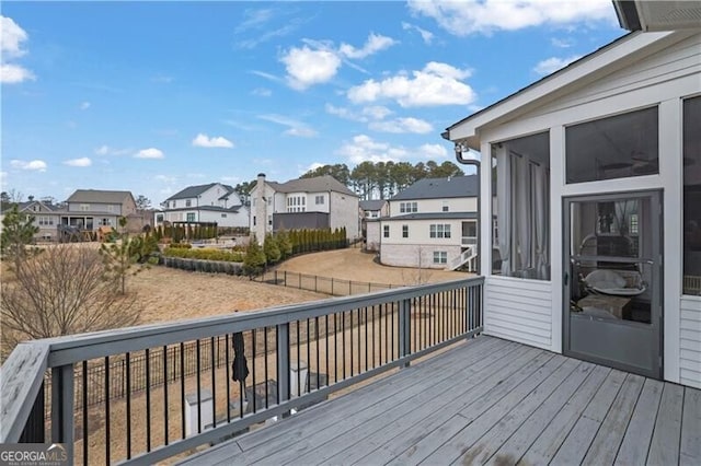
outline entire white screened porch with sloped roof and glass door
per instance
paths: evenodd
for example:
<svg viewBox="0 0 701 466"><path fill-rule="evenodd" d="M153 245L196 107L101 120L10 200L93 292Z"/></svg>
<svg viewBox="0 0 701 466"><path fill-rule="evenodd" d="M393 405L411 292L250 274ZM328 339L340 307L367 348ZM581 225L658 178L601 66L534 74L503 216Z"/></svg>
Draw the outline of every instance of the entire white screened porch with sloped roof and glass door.
<svg viewBox="0 0 701 466"><path fill-rule="evenodd" d="M696 28L631 33L444 135L482 154L485 334L701 387L698 13Z"/></svg>

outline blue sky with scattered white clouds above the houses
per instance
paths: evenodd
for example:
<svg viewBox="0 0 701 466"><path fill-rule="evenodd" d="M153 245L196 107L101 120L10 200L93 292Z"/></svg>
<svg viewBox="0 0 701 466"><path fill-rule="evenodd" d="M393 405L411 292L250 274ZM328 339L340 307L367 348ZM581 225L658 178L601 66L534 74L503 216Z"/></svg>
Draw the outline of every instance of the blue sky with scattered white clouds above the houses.
<svg viewBox="0 0 701 466"><path fill-rule="evenodd" d="M2 190L443 162L446 127L625 33L610 0L3 2Z"/></svg>

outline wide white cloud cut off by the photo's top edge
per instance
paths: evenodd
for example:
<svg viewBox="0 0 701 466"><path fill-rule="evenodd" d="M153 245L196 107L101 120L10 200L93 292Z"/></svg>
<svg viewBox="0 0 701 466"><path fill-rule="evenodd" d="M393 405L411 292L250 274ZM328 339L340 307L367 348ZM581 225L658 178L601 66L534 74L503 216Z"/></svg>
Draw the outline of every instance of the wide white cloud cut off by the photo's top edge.
<svg viewBox="0 0 701 466"><path fill-rule="evenodd" d="M414 14L434 19L456 36L525 27L616 22L610 0L409 0Z"/></svg>

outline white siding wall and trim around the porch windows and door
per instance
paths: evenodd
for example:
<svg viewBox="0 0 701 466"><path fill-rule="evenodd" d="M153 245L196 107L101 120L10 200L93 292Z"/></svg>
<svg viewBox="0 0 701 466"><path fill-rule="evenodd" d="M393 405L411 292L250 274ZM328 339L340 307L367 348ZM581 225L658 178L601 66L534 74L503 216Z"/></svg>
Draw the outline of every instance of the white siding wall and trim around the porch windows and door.
<svg viewBox="0 0 701 466"><path fill-rule="evenodd" d="M648 34L648 33L646 33ZM651 33L652 34L652 33ZM642 36L641 36L642 37ZM658 38L658 42L655 39ZM480 128L481 152L491 153L491 143L550 131L550 172L552 206L550 251L552 281L535 282L487 276L485 292L485 333L561 352L563 349L563 238L562 202L570 196L633 190L660 190L664 196L664 378L701 387L701 302L682 296L682 211L681 187L681 106L682 98L701 93L701 35L652 34L639 37L642 48L622 44L612 49L611 63L601 68L598 79L574 81L571 89L558 91L538 108L536 104L505 124L485 124ZM633 39L635 40L635 37ZM650 45L652 44L652 45ZM596 62L595 57L590 62ZM620 60L618 63L616 60ZM586 68L587 63L582 67ZM632 68L631 68L632 67ZM574 71L573 71L574 72ZM548 88L545 88L548 89ZM559 97L559 98L555 98ZM550 98L548 101L548 98ZM516 100L518 102L518 100ZM659 174L632 178L565 184L565 127L632 109L656 106L659 118ZM483 114L484 115L484 114ZM452 139L469 137L460 127ZM481 173L482 264L492 263L490 171ZM527 293L532 293L524 301ZM516 300L516 298L518 298ZM513 302L508 301L512 300ZM527 305L525 305L527 304ZM517 313L517 315L515 314Z"/></svg>

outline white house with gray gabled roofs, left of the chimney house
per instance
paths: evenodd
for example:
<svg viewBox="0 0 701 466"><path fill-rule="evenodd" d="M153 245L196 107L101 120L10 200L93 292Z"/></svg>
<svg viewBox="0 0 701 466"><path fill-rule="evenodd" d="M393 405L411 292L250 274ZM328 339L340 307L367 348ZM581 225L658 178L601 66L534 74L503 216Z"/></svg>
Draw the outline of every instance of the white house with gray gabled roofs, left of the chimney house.
<svg viewBox="0 0 701 466"><path fill-rule="evenodd" d="M249 208L237 191L221 183L188 186L161 203L156 224L168 222L217 223L225 228L249 226Z"/></svg>

